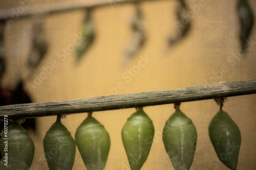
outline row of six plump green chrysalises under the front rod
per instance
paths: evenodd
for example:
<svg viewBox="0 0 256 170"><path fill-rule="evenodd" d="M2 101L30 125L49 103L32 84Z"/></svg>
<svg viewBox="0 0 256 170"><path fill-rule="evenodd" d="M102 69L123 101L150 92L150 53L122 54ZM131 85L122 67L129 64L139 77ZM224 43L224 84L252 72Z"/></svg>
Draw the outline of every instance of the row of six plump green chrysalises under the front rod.
<svg viewBox="0 0 256 170"><path fill-rule="evenodd" d="M238 126L222 110L224 99L216 99L220 111L211 119L209 137L220 161L232 170L237 169L241 144ZM163 143L167 155L176 170L189 169L193 163L197 145L197 130L190 118L181 110L180 103L175 104L176 111L167 119L163 128ZM88 170L105 168L110 151L110 135L98 122L92 112L77 128L75 140L68 129L56 122L47 131L44 138L45 157L50 170L72 169L76 146ZM35 147L29 133L20 126L22 120L13 120L8 129L8 166L2 162L0 169L30 169ZM150 154L154 138L154 125L142 107L136 108L124 124L121 137L132 170L139 170ZM0 151L5 153L5 138L0 139ZM230 151L232 147L232 151ZM52 152L55 149L53 156ZM136 155L136 156L135 156Z"/></svg>

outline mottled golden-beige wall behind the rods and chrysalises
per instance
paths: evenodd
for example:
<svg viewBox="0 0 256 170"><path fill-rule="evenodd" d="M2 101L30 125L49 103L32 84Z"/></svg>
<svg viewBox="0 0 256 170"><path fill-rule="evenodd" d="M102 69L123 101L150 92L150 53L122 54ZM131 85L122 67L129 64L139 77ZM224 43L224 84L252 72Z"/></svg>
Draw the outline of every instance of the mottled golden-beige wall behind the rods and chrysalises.
<svg viewBox="0 0 256 170"><path fill-rule="evenodd" d="M121 1L122 2L122 1ZM199 0L186 1L189 10L199 4ZM48 15L45 17L45 31L50 43L45 60L34 72L39 76L43 67L57 62L52 74L36 88L26 86L33 102L53 102L91 96L102 96L109 93L108 88L122 83L118 94L169 90L198 86L206 81L232 82L256 78L255 43L246 56L233 58L239 51L239 21L236 13L236 1L208 1L200 8L191 22L191 30L172 50L165 51L166 36L175 31L176 1L154 1L142 4L147 40L139 53L129 64L121 65L122 52L130 40L130 21L134 14L133 5L120 5L115 8L103 7L93 13L97 31L97 39L82 61L76 65L75 55L70 53L65 60L57 57L61 48L67 48L79 35L84 11L72 11ZM34 4L51 3L51 1L35 1ZM256 3L249 0L256 14ZM4 4L0 8L19 5L15 1ZM28 54L30 19L24 18L10 23L6 32L8 70L2 84L3 87L15 87L18 77L26 77L25 59ZM20 38L22 37L22 38ZM251 41L256 42L256 31L253 27ZM141 60L150 59L140 68L131 80L122 75L133 69ZM229 59L229 60L228 60ZM235 63L236 61L236 63ZM223 68L225 68L223 70ZM220 74L220 71L223 71ZM218 72L218 76L215 75ZM217 80L217 81L215 81ZM26 79L26 83L34 83L34 77ZM223 109L229 113L241 130L242 144L238 169L255 169L256 163L256 95L244 95L228 98ZM218 163L218 157L208 137L208 125L219 107L214 100L182 103L181 110L190 117L198 131L198 143L191 169L228 169ZM161 132L165 121L174 112L173 105L148 106L144 111L153 120L155 138L150 155L142 169L174 169L164 150ZM94 116L101 122L111 137L111 150L105 169L128 169L128 161L122 146L121 129L133 112L131 109L95 112ZM68 115L62 123L72 136L87 113ZM30 132L36 146L31 169L48 169L42 148L42 140L55 116L38 118L38 133ZM76 150L73 169L85 169L82 159Z"/></svg>

